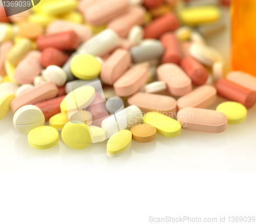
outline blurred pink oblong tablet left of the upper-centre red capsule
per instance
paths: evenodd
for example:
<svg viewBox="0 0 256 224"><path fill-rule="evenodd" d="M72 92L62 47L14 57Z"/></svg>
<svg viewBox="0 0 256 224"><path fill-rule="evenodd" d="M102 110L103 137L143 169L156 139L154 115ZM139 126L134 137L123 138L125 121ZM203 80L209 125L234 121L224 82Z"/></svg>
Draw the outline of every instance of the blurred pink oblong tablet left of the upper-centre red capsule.
<svg viewBox="0 0 256 224"><path fill-rule="evenodd" d="M145 20L145 10L140 7L133 7L127 13L113 19L108 28L117 32L120 37L126 37L135 25L142 25Z"/></svg>

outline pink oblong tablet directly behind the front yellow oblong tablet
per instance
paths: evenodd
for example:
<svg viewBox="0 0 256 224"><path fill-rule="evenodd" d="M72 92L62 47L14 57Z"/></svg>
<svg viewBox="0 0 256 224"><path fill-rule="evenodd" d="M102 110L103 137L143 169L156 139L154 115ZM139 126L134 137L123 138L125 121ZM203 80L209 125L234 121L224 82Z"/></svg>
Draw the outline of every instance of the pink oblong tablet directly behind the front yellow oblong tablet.
<svg viewBox="0 0 256 224"><path fill-rule="evenodd" d="M149 93L136 93L128 98L130 105L138 106L142 112L158 112L168 117L175 117L177 102L173 97Z"/></svg>

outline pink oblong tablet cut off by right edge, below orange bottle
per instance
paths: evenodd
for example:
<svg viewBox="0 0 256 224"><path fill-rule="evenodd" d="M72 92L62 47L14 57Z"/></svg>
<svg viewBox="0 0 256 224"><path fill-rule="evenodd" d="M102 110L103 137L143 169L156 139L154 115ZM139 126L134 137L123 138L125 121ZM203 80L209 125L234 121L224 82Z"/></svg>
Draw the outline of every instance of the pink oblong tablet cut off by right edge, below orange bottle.
<svg viewBox="0 0 256 224"><path fill-rule="evenodd" d="M244 72L236 71L227 74L227 80L239 84L256 92L256 77Z"/></svg>

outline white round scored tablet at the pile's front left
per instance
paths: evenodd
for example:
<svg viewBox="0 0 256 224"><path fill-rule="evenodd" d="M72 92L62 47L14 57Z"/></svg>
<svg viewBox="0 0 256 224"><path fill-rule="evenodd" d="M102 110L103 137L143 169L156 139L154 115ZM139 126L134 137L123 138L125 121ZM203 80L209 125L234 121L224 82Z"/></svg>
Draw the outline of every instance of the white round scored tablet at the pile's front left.
<svg viewBox="0 0 256 224"><path fill-rule="evenodd" d="M19 133L28 135L32 129L44 126L45 116L39 107L26 105L16 111L13 117L13 124Z"/></svg>

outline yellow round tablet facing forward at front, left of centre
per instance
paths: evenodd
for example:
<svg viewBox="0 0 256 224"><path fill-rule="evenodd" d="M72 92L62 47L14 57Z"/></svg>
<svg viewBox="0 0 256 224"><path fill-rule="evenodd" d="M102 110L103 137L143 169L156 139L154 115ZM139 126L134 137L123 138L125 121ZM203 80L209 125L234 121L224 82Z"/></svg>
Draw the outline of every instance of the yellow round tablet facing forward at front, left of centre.
<svg viewBox="0 0 256 224"><path fill-rule="evenodd" d="M81 121L70 121L62 128L62 140L71 148L83 149L91 142L91 134L87 124Z"/></svg>

